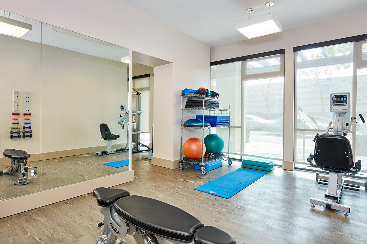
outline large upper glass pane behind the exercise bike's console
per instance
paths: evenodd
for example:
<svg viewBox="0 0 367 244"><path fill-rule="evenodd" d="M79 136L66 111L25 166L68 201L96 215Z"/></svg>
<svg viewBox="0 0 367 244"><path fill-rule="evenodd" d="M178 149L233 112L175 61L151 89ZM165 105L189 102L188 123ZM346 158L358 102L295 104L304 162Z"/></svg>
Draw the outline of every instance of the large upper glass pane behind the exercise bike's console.
<svg viewBox="0 0 367 244"><path fill-rule="evenodd" d="M330 93L352 93L351 50L347 43L297 52L297 128L326 129L333 121Z"/></svg>

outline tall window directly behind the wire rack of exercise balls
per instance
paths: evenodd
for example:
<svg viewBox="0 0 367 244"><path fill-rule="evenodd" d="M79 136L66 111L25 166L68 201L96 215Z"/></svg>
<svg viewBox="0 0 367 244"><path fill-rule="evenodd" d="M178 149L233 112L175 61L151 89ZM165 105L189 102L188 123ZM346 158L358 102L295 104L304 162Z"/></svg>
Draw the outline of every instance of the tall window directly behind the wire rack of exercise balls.
<svg viewBox="0 0 367 244"><path fill-rule="evenodd" d="M273 159L281 164L284 54L212 65L211 90L219 93L221 107L230 103L230 155ZM228 136L228 132L212 132Z"/></svg>

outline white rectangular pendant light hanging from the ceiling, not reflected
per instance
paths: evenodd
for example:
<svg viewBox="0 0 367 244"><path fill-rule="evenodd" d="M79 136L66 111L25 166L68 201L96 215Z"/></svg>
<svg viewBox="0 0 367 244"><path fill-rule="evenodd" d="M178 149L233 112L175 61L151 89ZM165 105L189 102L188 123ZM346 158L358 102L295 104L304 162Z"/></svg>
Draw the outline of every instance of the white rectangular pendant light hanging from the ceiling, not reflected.
<svg viewBox="0 0 367 244"><path fill-rule="evenodd" d="M248 19L236 24L236 29L248 39L281 32L281 25L273 14Z"/></svg>

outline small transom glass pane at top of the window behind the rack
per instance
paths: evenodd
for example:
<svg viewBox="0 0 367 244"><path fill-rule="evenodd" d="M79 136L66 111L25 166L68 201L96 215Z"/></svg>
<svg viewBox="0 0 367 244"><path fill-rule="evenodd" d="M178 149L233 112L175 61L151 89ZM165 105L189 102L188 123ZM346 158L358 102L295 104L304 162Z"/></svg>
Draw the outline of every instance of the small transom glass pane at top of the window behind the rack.
<svg viewBox="0 0 367 244"><path fill-rule="evenodd" d="M246 74L259 74L280 70L280 57L246 61Z"/></svg>

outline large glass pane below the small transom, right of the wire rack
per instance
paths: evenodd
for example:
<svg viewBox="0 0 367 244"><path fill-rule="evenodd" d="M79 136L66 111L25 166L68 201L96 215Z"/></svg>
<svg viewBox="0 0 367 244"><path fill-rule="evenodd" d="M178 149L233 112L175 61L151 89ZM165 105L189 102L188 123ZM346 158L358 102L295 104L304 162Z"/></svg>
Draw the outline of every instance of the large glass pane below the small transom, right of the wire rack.
<svg viewBox="0 0 367 244"><path fill-rule="evenodd" d="M245 154L283 158L283 77L245 81Z"/></svg>

